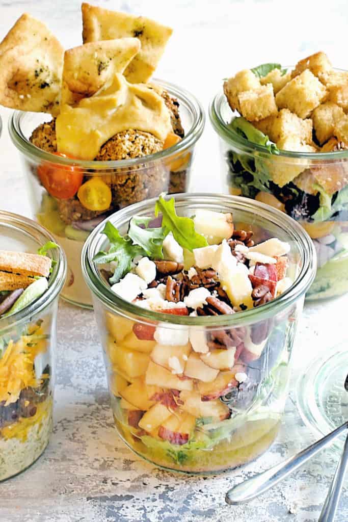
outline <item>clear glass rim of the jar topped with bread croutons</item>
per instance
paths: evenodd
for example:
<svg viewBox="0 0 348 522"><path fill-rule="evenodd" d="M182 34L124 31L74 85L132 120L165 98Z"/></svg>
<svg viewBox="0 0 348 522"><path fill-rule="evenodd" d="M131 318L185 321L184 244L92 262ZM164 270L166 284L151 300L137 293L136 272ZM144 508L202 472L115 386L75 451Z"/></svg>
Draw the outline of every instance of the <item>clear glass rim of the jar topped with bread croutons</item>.
<svg viewBox="0 0 348 522"><path fill-rule="evenodd" d="M293 68L293 67L287 67ZM335 71L342 71L342 69L334 68ZM238 146L244 152L253 155L256 151L262 153L262 157L275 158L281 157L283 159L304 159L310 160L313 163L325 162L327 160L342 160L348 158L348 150L336 151L336 152L291 152L287 150L280 150L279 155L274 155L263 146L254 144L243 136L234 132L231 127L224 121L221 113L223 106L227 105L227 100L223 92L215 94L214 98L209 104L209 118L210 122L217 134L228 141L231 145ZM232 115L232 111L231 111Z"/></svg>

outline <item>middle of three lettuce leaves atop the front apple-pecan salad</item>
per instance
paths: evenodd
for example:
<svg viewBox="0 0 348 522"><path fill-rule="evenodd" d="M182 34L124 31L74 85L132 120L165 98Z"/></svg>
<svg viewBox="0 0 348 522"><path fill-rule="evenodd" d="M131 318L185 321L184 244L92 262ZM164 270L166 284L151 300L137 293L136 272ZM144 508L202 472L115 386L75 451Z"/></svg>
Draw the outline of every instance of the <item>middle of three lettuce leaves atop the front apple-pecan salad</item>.
<svg viewBox="0 0 348 522"><path fill-rule="evenodd" d="M130 220L128 236L135 245L141 246L151 259L163 259L163 240L169 233L163 227L147 228L152 218L135 216ZM139 225L145 225L145 228Z"/></svg>

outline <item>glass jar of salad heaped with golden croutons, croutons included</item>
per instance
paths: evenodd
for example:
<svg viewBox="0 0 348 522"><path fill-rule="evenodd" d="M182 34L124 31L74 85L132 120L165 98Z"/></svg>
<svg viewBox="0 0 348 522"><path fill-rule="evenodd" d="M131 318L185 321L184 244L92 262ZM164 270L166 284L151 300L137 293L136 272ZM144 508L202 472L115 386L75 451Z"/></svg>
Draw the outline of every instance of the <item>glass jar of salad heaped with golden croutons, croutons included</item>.
<svg viewBox="0 0 348 522"><path fill-rule="evenodd" d="M264 64L225 80L210 105L225 190L302 224L318 271L309 300L348 291L348 72L325 53Z"/></svg>

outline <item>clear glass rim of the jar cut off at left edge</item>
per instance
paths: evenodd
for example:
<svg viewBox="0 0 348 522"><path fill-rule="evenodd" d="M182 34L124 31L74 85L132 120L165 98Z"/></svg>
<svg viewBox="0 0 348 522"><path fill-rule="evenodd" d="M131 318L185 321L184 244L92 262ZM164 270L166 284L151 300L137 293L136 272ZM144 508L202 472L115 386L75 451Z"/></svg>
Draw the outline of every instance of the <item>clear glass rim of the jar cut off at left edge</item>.
<svg viewBox="0 0 348 522"><path fill-rule="evenodd" d="M23 227L26 227L29 232L36 231L42 234L46 242L53 241L55 243L55 240L50 232L43 228L39 223L36 223L35 221L26 217L19 216L18 214L0 210L0 224L8 224L11 228L16 228L22 233L24 233ZM56 261L56 264L54 265L52 274L50 276L48 290L41 296L40 299L34 301L25 309L8 317L0 318L0 335L3 335L7 328L12 329L14 326L16 326L17 323L27 322L30 316L40 313L50 305L50 303L62 290L67 272L67 262L63 249L59 248L57 250L52 250L52 259Z"/></svg>

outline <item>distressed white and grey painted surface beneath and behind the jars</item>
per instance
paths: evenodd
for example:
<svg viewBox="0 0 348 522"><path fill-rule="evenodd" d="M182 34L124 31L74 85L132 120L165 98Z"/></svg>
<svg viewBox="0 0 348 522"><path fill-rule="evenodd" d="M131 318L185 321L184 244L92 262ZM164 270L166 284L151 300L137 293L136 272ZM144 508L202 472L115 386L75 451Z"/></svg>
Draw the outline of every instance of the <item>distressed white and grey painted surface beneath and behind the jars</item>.
<svg viewBox="0 0 348 522"><path fill-rule="evenodd" d="M176 7L174 11L159 0L136 0L131 5L116 0L93 3L142 12L174 25L176 31L158 76L185 85L206 108L212 94L219 89L220 78L238 68L269 59L290 64L320 48L329 52L335 65L346 65L347 10L343 0L331 3L319 20L316 16L319 3L312 1L301 3L301 16L300 3L296 0L288 9L286 2L219 0L214 4L213 16L211 3L205 1L177 1L171 3ZM81 42L79 4L78 0L62 0L59 9L52 9L53 3L49 0L0 0L0 38L23 11L28 11L47 22L67 48L77 45ZM285 25L279 17L282 8L287 17ZM308 23L309 19L313 23ZM277 42L276 54L274 42ZM0 140L0 207L30 215L19 157L6 132L10 111L1 108L0 114L5 129ZM219 191L217 155L217 139L208 123L197 150L192 189L199 186L201 191ZM292 390L297 375L311 358L343 338L348 339L347 305L345 297L306 306L296 339ZM329 450L259 499L238 507L224 503L224 494L231 484L268 468L314 441L313 434L299 418L293 391L278 440L266 455L243 469L219 476L187 477L167 473L134 456L117 438L93 314L61 302L58 339L54 434L36 464L0 484L1 522L225 522L234 519L315 522L318 519L337 458ZM346 493L336 519L337 522L348 520Z"/></svg>

